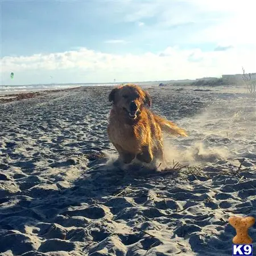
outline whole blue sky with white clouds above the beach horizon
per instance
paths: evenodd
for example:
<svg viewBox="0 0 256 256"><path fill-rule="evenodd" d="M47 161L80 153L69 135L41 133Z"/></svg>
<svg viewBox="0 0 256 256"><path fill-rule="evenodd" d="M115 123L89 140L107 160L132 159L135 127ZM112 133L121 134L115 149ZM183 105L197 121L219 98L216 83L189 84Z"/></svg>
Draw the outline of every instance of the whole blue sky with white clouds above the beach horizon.
<svg viewBox="0 0 256 256"><path fill-rule="evenodd" d="M255 72L253 5L2 1L1 84L193 79L242 65Z"/></svg>

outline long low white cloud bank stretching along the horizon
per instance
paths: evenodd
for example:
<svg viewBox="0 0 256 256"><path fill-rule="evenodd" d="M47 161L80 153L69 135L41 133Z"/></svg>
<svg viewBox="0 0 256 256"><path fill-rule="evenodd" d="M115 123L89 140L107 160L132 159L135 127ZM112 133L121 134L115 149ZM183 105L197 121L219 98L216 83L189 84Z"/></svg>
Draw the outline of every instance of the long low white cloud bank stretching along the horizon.
<svg viewBox="0 0 256 256"><path fill-rule="evenodd" d="M142 55L114 55L86 48L79 51L6 56L2 61L2 84L8 84L10 72L19 84L48 82L108 82L195 79L221 76L223 73L255 72L256 47L230 48L229 51L203 52L199 48L168 47L162 52ZM18 78L19 77L19 80Z"/></svg>

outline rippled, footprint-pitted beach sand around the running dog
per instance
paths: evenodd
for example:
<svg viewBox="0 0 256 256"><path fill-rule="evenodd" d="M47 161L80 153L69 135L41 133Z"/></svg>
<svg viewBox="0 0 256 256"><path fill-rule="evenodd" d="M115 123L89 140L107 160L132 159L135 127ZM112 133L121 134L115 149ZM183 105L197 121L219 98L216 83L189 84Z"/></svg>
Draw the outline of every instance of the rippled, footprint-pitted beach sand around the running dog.
<svg viewBox="0 0 256 256"><path fill-rule="evenodd" d="M256 217L255 97L246 89L147 88L184 127L174 170L117 166L105 86L0 104L1 255L232 255L229 216ZM255 225L249 234L256 248Z"/></svg>

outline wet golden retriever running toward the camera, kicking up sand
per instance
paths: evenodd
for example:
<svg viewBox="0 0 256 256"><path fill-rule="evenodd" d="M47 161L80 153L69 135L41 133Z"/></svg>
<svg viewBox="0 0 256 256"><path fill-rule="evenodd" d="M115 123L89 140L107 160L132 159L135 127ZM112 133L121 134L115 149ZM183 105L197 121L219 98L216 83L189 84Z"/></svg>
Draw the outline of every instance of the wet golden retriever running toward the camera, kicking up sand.
<svg viewBox="0 0 256 256"><path fill-rule="evenodd" d="M108 136L118 151L119 160L128 164L135 158L150 163L154 158L164 163L163 132L187 137L171 121L154 114L148 92L134 84L114 88L109 94Z"/></svg>

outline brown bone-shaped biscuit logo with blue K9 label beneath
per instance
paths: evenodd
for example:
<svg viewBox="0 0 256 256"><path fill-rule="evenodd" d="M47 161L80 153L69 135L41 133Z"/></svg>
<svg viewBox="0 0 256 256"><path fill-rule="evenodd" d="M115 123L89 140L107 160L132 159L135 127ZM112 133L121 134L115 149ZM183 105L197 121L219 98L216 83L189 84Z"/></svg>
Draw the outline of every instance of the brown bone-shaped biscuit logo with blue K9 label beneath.
<svg viewBox="0 0 256 256"><path fill-rule="evenodd" d="M254 217L229 218L229 224L236 229L236 236L233 237L232 255L253 255L253 240L248 234L248 229L255 223Z"/></svg>

